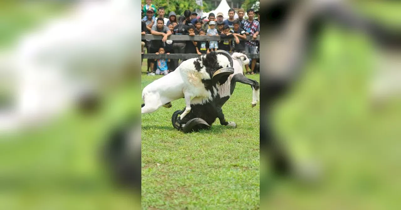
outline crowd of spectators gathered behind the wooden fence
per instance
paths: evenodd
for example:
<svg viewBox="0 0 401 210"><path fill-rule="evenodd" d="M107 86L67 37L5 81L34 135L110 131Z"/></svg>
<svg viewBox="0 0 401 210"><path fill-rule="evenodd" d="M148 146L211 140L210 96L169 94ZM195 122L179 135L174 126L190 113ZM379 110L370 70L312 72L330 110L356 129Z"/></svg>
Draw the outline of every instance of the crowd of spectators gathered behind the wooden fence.
<svg viewBox="0 0 401 210"><path fill-rule="evenodd" d="M157 14L156 14L157 13ZM228 11L229 18L223 20L223 13L210 13L207 18L199 18L196 12L185 10L184 14L177 18L175 12L170 12L165 17L163 7L156 8L152 0L146 0L142 7L142 34L163 36L162 40L142 40L142 54L207 54L214 50L225 50L229 53L241 52L245 54L259 53L259 41L255 40L259 35L259 11L247 10L248 19L245 20L245 10L237 11L238 18L235 19L235 10ZM257 20L255 20L257 15ZM168 40L170 35L189 36L220 36L221 38L234 38L233 40L221 41L182 41ZM247 35L253 40L246 40ZM180 59L182 61L186 59ZM245 66L247 74L255 74L256 59L250 59L249 65ZM143 59L142 59L143 61ZM156 65L155 65L156 63ZM178 59L148 59L148 75L168 74L179 65Z"/></svg>

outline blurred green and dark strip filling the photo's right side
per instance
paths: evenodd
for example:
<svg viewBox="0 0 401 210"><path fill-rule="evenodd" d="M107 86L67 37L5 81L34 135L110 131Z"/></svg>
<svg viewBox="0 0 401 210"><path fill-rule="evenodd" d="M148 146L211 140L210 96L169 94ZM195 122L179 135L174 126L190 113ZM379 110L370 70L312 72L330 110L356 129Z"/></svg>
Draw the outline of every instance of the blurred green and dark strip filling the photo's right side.
<svg viewBox="0 0 401 210"><path fill-rule="evenodd" d="M313 2L315 7L307 2ZM342 6L344 10L370 19L398 35L393 36L393 40L383 34L372 36L379 31L378 28L367 30L370 26L365 27L341 14L336 10L338 2L347 3ZM288 5L291 9L286 10ZM304 16L300 15L300 5L308 5L306 8L309 10L303 10L307 11ZM400 10L400 1L261 1L261 40L264 41L260 45L261 56L265 56L265 63L261 62L261 66L265 66L263 72L261 69L261 75L265 76L261 79L261 86L283 80L291 87L274 102L261 102L261 107L274 103L269 112L272 127L278 135L277 141L284 145L297 171L290 177L273 176L268 167L271 164L266 152L268 148L261 148L261 208L399 208ZM288 11L299 12L286 19L296 23L292 27L295 29L275 39L275 33L280 34L279 26L288 23L277 20L290 14ZM316 13L318 15L314 15ZM331 14L340 15L333 18L335 15ZM302 22L303 17L310 16L317 18L305 18ZM342 22L338 21L341 19ZM308 50L309 56L301 59L303 64L293 62L288 55L297 52L299 46L307 42L298 39L294 43L302 42L300 45L288 46L280 40L294 35L292 32L299 28L306 30L306 26L316 25L320 27L311 27L317 29L316 36L308 36L314 45L300 50L298 58L307 55ZM284 52L285 56L278 55L281 52L276 49L269 54L269 48L274 45L288 50ZM278 62L271 59L273 57L290 63L291 67L280 69ZM287 75L283 79L272 73L277 69L289 69L292 73L288 75L291 76L300 75L294 79ZM263 88L262 97L267 97Z"/></svg>

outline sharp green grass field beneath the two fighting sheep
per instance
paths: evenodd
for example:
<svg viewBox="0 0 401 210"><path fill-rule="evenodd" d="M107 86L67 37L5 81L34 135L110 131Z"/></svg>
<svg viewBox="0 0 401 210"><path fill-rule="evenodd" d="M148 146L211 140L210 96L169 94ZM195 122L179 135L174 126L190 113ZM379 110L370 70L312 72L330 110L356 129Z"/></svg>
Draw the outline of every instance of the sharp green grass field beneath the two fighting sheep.
<svg viewBox="0 0 401 210"><path fill-rule="evenodd" d="M157 78L142 75L142 88ZM259 81L259 75L249 78ZM178 132L171 116L184 99L142 115L142 208L257 209L259 105L251 108L251 100L250 86L237 84L223 106L237 128L217 119L211 130Z"/></svg>

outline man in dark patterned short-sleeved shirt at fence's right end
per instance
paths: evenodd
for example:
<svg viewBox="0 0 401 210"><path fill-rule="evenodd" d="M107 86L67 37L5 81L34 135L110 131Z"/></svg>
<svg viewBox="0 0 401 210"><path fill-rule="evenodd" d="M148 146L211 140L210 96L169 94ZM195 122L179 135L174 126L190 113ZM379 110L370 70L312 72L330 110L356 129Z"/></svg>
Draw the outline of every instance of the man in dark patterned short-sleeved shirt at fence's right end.
<svg viewBox="0 0 401 210"><path fill-rule="evenodd" d="M253 9L249 9L247 11L247 14L249 17L248 20L242 21L243 29L245 30L247 35L251 35L253 37L253 39L256 39L257 35L259 35L259 22L253 20L253 17L255 16L255 12ZM246 41L245 42L245 53L257 54L256 46L257 46L256 40ZM253 70L255 69L255 64L256 64L256 59L252 59L251 71L249 71L249 64L245 65L247 74L255 74L255 73L253 73Z"/></svg>

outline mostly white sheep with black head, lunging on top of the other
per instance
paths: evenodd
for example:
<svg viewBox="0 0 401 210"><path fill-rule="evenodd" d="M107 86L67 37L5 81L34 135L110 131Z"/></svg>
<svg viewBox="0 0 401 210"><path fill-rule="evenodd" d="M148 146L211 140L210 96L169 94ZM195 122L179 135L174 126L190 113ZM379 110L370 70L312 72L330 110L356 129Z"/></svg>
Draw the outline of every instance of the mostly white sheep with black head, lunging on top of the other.
<svg viewBox="0 0 401 210"><path fill-rule="evenodd" d="M153 81L142 90L142 114L185 98L186 108L180 118L191 110L191 104L205 103L217 94L217 84L224 84L234 73L233 59L228 52L217 50L199 58L185 60L170 74ZM192 99L191 99L192 98Z"/></svg>

